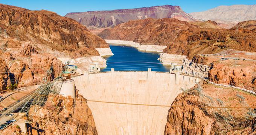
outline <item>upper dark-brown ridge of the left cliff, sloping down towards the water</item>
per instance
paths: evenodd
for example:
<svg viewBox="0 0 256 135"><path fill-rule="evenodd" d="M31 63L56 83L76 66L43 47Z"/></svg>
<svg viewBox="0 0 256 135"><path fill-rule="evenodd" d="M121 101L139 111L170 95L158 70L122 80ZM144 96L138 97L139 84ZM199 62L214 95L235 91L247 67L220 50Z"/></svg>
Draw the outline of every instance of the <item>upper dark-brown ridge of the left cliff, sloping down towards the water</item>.
<svg viewBox="0 0 256 135"><path fill-rule="evenodd" d="M106 44L75 20L61 17L54 12L31 11L8 5L0 5L0 10L0 24L9 37L45 44L87 45L89 48L93 44L102 47Z"/></svg>

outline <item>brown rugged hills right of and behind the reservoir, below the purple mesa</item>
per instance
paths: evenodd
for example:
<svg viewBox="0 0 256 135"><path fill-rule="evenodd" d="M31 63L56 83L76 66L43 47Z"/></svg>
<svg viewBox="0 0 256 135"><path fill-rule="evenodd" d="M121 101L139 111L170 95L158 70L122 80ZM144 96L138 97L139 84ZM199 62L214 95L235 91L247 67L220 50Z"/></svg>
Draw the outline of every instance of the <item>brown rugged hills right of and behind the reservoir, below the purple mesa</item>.
<svg viewBox="0 0 256 135"><path fill-rule="evenodd" d="M212 54L226 49L256 51L254 30L200 28L186 21L170 18L129 21L105 29L98 35L104 39L166 45L167 48L163 52L188 55L190 60L197 54Z"/></svg>

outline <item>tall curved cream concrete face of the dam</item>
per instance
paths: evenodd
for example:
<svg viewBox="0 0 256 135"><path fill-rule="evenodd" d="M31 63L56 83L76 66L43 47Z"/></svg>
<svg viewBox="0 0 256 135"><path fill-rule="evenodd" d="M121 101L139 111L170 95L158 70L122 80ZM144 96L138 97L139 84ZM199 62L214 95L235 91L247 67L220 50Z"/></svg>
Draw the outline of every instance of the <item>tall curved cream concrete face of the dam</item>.
<svg viewBox="0 0 256 135"><path fill-rule="evenodd" d="M163 135L168 110L181 88L198 78L163 72L101 72L74 77L99 135Z"/></svg>

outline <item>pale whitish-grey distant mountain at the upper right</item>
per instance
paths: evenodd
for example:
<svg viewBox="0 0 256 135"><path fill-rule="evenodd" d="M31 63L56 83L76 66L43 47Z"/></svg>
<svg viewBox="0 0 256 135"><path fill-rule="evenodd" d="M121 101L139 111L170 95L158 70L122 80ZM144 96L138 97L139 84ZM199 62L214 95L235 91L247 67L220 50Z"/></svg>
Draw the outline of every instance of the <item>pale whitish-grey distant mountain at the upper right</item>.
<svg viewBox="0 0 256 135"><path fill-rule="evenodd" d="M235 26L241 21L256 20L256 5L218 6L203 12L189 13L201 20L212 20L217 23L228 24L227 28Z"/></svg>

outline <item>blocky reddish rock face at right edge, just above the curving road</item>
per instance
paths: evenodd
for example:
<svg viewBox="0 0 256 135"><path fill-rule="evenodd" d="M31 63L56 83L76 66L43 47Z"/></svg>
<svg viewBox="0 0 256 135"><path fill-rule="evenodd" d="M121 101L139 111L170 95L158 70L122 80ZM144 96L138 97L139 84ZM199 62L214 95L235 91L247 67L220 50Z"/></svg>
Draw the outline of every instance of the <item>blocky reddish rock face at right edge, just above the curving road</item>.
<svg viewBox="0 0 256 135"><path fill-rule="evenodd" d="M208 78L215 83L230 84L231 86L242 87L248 90L256 91L255 62L252 63L252 65L249 65L248 62L238 63L233 61L232 63L234 64L228 65L227 63L223 62L212 63Z"/></svg>

